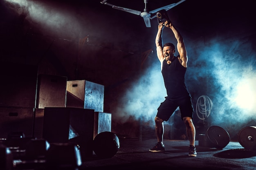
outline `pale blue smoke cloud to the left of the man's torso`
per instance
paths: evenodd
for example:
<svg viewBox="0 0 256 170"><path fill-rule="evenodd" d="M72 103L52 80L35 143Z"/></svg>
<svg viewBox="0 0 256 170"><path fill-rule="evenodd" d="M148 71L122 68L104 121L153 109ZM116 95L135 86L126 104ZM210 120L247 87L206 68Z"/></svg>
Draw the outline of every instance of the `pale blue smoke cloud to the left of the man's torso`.
<svg viewBox="0 0 256 170"><path fill-rule="evenodd" d="M117 119L126 121L130 116L144 121L154 120L157 108L166 96L160 62L148 68L141 78L126 90L115 112Z"/></svg>

